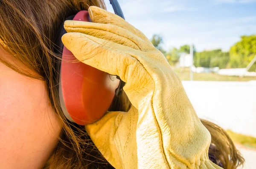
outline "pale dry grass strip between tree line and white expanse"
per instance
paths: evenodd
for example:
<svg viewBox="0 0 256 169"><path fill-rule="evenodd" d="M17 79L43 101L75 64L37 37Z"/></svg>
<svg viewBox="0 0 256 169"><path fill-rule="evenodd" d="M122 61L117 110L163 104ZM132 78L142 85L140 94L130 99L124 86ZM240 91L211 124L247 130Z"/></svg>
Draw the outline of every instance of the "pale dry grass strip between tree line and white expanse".
<svg viewBox="0 0 256 169"><path fill-rule="evenodd" d="M189 68L175 68L175 71L180 80L190 80ZM193 80L195 81L251 81L256 80L256 77L244 76L239 78L239 76L223 76L216 73L193 73Z"/></svg>

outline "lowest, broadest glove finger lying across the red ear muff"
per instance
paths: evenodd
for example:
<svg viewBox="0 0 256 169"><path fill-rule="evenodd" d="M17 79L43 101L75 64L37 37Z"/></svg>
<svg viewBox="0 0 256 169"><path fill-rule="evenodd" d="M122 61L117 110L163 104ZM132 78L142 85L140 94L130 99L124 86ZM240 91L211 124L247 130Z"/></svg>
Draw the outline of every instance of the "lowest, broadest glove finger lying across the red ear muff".
<svg viewBox="0 0 256 169"><path fill-rule="evenodd" d="M134 57L138 51L133 48L77 32L64 34L62 42L79 61L117 75L124 82L127 82L128 76L147 78L145 68L138 57ZM140 55L139 59L143 61L147 58Z"/></svg>

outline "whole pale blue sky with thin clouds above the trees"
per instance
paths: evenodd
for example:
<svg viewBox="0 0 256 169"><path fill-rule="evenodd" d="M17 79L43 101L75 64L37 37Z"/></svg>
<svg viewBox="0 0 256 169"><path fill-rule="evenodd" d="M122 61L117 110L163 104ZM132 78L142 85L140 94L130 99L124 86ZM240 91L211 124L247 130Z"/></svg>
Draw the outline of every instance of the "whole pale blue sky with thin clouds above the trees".
<svg viewBox="0 0 256 169"><path fill-rule="evenodd" d="M105 0L108 11L112 11ZM241 35L256 34L256 0L119 0L125 20L163 48L193 42L197 51L228 51Z"/></svg>

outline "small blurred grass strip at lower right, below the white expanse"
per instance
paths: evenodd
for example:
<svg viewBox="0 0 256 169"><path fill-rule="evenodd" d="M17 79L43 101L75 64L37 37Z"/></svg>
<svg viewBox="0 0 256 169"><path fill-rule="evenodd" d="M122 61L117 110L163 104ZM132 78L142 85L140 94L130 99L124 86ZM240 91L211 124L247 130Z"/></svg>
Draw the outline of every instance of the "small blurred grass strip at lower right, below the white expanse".
<svg viewBox="0 0 256 169"><path fill-rule="evenodd" d="M227 134L235 143L256 149L256 138L248 135L238 134L231 130L227 130Z"/></svg>

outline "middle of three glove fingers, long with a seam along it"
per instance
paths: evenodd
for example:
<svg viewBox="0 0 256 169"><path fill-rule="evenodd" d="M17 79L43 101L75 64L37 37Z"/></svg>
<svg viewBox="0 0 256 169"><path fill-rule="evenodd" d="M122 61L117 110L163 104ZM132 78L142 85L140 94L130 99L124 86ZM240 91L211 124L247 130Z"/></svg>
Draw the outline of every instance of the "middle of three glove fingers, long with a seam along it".
<svg viewBox="0 0 256 169"><path fill-rule="evenodd" d="M116 25L67 20L64 23L64 28L67 32L88 34L140 51L148 51L148 48L153 50L153 46L148 45L143 39Z"/></svg>

